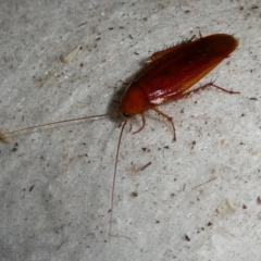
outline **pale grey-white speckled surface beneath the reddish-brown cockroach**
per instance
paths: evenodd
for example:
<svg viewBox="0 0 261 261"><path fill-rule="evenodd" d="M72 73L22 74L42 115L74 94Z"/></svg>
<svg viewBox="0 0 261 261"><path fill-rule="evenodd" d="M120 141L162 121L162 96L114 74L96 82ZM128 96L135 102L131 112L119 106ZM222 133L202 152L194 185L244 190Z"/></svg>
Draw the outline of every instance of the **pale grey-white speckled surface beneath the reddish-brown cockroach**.
<svg viewBox="0 0 261 261"><path fill-rule="evenodd" d="M141 133L126 128L112 233L130 240L108 239L119 121L66 124L16 136L17 146L1 144L1 260L260 260L261 7L256 2L1 2L5 129L115 110L121 80L128 82L154 50L199 28L202 35L239 39L239 48L202 83L217 77L217 85L241 92L209 89L162 107L175 120L176 142L153 113ZM62 63L60 55L77 46L83 49L75 60ZM140 169L150 161L132 175L132 163Z"/></svg>

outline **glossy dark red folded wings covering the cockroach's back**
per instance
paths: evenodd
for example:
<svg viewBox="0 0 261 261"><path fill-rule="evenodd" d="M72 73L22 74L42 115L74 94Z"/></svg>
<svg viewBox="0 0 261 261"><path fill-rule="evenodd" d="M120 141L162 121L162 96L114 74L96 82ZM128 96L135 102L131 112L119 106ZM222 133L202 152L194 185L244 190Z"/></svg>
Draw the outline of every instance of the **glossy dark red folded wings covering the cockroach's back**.
<svg viewBox="0 0 261 261"><path fill-rule="evenodd" d="M179 99L238 46L238 40L225 34L210 35L179 44L159 57L135 79L151 107ZM157 53L156 53L157 55Z"/></svg>

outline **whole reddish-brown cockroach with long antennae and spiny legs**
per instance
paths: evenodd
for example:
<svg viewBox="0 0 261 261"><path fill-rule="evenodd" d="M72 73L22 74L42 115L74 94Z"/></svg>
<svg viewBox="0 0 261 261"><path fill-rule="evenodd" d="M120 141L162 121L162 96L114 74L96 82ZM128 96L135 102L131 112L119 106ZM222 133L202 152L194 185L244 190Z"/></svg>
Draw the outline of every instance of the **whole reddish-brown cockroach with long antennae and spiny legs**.
<svg viewBox="0 0 261 261"><path fill-rule="evenodd" d="M213 82L189 90L189 88L212 71L219 63L228 58L237 46L238 40L232 35L214 34L202 37L200 34L198 39L192 37L191 39L182 41L176 46L154 52L151 55L151 62L136 75L134 80L126 88L117 112L52 122L5 134L2 132L0 139L7 142L9 141L8 137L11 134L58 123L86 120L90 117L122 115L124 120L116 147L111 192L109 222L109 235L111 236L119 151L123 130L127 121L138 114L141 116L142 125L138 130L134 132L134 134L138 133L146 124L145 112L153 110L170 122L173 129L173 140L176 140L176 133L172 117L161 112L158 107L170 101L181 100L188 97L190 94L198 92L208 87L214 87L228 94L239 94L238 91L221 88Z"/></svg>

